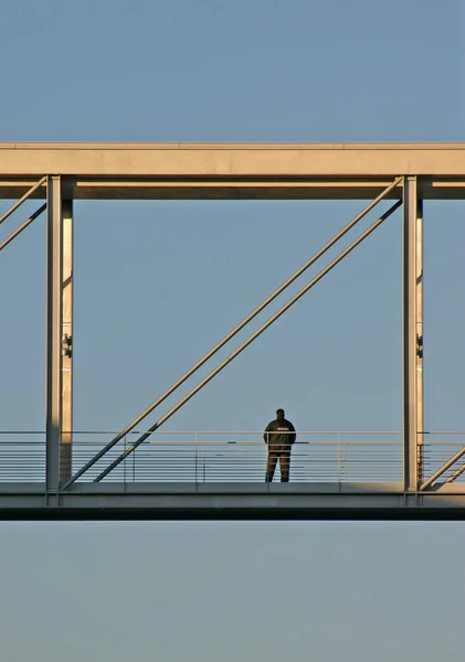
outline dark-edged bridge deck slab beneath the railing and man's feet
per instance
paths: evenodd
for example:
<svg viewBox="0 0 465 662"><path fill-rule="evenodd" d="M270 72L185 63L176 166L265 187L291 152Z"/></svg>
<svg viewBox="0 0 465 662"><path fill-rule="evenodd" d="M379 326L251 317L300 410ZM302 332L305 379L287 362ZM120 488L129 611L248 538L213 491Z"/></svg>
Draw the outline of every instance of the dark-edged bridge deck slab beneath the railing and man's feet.
<svg viewBox="0 0 465 662"><path fill-rule="evenodd" d="M385 484L84 483L0 485L2 520L464 520L464 485L404 493Z"/></svg>

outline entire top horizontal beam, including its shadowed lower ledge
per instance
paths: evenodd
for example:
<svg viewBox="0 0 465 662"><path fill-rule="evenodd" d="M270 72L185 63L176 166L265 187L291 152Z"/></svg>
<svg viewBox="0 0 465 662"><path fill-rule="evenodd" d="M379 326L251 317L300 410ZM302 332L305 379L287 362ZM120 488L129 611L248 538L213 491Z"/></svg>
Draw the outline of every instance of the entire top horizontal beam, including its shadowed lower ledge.
<svg viewBox="0 0 465 662"><path fill-rule="evenodd" d="M372 197L408 174L463 199L465 143L0 143L1 197L44 174L77 199Z"/></svg>

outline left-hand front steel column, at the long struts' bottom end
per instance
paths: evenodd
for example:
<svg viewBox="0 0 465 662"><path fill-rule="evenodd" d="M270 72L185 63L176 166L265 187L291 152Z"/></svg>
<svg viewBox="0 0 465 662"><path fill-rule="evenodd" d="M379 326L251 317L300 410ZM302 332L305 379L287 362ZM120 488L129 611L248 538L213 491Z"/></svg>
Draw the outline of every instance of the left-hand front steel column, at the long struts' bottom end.
<svg viewBox="0 0 465 662"><path fill-rule="evenodd" d="M60 485L62 434L62 285L63 217L62 182L49 177L46 183L46 405L45 483L47 492Z"/></svg>

